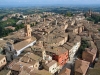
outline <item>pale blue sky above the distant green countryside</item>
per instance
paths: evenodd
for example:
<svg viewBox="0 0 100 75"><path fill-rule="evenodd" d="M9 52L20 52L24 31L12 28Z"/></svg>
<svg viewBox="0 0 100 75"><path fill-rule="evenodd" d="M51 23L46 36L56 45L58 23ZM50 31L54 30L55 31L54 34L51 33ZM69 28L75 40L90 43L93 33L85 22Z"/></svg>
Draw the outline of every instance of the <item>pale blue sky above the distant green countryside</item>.
<svg viewBox="0 0 100 75"><path fill-rule="evenodd" d="M100 0L0 0L0 5L100 4Z"/></svg>

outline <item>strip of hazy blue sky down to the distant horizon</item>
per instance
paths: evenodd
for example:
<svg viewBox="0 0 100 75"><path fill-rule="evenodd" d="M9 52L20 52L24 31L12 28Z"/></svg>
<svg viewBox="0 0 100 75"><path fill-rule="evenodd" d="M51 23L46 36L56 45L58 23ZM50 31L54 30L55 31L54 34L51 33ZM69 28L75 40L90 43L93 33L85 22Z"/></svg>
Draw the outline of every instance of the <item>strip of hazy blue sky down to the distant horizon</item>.
<svg viewBox="0 0 100 75"><path fill-rule="evenodd" d="M50 5L99 5L100 0L0 0L0 7L11 6L50 6Z"/></svg>

